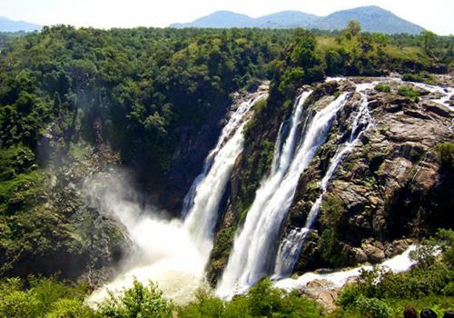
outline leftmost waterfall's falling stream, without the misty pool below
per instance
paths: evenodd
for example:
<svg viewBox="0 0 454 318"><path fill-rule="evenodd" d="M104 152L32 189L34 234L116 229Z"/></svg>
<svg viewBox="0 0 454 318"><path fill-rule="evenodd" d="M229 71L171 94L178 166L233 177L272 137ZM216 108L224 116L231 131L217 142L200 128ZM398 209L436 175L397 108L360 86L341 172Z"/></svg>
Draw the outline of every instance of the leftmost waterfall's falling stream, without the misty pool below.
<svg viewBox="0 0 454 318"><path fill-rule="evenodd" d="M266 94L259 94L242 103L222 129L218 143L205 159L202 174L199 174L186 195L183 214L186 214L184 226L192 234L201 249L210 253L212 233L216 224L219 204L225 186L232 174L236 158L242 152L242 130L244 114L252 105L262 100ZM230 138L230 139L229 139Z"/></svg>

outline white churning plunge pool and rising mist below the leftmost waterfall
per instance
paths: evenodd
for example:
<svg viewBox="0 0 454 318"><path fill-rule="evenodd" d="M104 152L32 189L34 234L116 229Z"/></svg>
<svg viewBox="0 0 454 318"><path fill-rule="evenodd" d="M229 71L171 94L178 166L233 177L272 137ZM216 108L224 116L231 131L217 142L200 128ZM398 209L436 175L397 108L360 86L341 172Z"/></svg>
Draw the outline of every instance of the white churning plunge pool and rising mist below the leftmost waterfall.
<svg viewBox="0 0 454 318"><path fill-rule="evenodd" d="M165 296L188 301L202 286L205 259L183 222L165 220L159 211L143 209L125 199L127 183L115 175L100 177L86 186L96 197L97 209L123 224L134 247L114 280L94 291L87 302L95 305L108 297L109 291L119 293L131 287L134 279L158 283Z"/></svg>

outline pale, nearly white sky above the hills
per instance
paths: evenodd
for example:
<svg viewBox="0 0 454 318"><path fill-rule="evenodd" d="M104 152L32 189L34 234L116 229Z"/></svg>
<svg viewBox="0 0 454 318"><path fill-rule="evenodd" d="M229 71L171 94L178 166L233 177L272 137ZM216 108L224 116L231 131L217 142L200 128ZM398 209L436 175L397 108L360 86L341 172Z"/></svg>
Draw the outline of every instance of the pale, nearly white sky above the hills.
<svg viewBox="0 0 454 318"><path fill-rule="evenodd" d="M217 10L259 16L283 10L315 15L380 5L440 35L454 35L454 0L0 0L0 15L39 25L167 26Z"/></svg>

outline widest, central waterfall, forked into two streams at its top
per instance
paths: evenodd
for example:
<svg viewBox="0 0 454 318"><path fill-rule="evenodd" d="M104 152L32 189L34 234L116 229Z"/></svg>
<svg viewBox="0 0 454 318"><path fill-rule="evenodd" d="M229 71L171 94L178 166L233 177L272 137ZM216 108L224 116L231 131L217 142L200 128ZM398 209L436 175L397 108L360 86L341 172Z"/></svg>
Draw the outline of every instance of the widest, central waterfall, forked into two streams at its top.
<svg viewBox="0 0 454 318"><path fill-rule="evenodd" d="M271 169L274 174L270 174L257 190L242 230L234 239L232 254L216 291L222 297L245 292L271 272L274 243L291 206L300 175L325 142L335 115L349 96L343 93L317 114L308 115L302 130L302 142L296 146L302 104L308 95L304 93L297 101L290 133L279 160L275 162L277 168Z"/></svg>

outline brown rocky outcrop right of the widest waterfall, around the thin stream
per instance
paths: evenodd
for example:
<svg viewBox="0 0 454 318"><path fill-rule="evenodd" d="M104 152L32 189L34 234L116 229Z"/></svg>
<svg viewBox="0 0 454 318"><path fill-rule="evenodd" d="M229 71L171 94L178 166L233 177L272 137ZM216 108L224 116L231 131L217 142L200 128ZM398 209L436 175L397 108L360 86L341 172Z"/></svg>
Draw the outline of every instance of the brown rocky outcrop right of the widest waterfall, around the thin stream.
<svg viewBox="0 0 454 318"><path fill-rule="evenodd" d="M373 125L331 178L297 273L321 266L379 263L401 253L420 235L452 226L448 221L449 206L454 206L448 184L452 169L441 164L437 145L454 142L453 111L433 101L439 99L436 93L419 87L420 100L414 101L397 94L399 87L411 84L386 84L390 93L368 92ZM354 102L353 98L338 114L329 140L301 175L282 234L303 225L320 194L318 183L342 133L349 129L345 113Z"/></svg>

